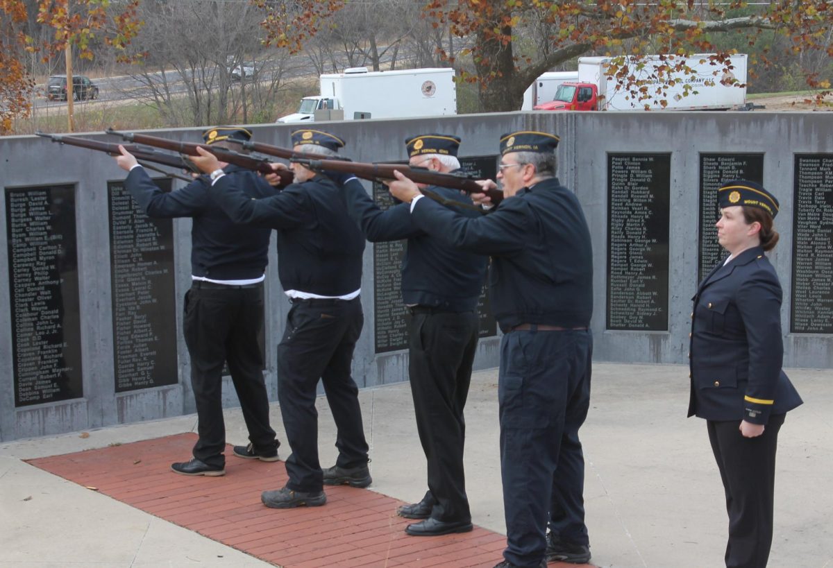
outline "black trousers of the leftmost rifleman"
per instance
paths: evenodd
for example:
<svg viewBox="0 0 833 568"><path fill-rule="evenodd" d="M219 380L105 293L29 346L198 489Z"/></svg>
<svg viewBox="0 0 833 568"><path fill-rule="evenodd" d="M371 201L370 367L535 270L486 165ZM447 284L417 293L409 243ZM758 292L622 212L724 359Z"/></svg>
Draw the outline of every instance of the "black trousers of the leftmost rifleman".
<svg viewBox="0 0 833 568"><path fill-rule="evenodd" d="M185 295L183 328L191 356L191 386L197 403L199 440L193 454L223 466L226 426L222 419L222 367L228 362L234 389L259 450L277 447L269 426L269 397L263 381L263 286L239 287L194 282Z"/></svg>

